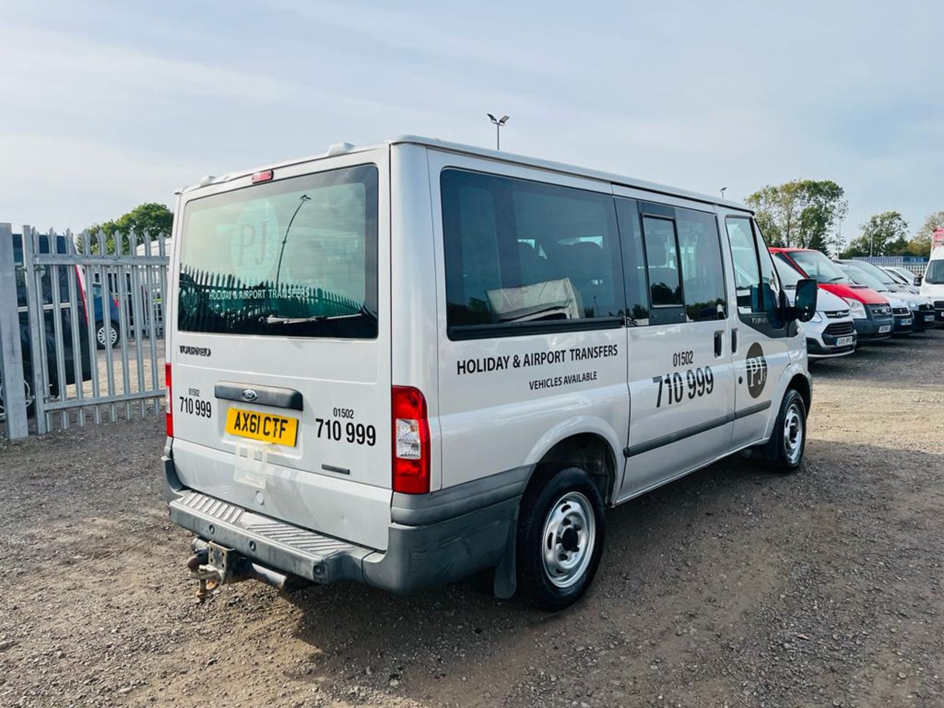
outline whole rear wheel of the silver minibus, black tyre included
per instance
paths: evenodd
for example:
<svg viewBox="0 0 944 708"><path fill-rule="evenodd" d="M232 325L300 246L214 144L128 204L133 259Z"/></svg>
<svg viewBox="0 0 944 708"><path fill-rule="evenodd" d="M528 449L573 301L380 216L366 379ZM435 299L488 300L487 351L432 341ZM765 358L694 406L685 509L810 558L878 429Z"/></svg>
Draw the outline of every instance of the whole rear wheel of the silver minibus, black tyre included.
<svg viewBox="0 0 944 708"><path fill-rule="evenodd" d="M563 610L593 582L603 551L603 500L580 467L556 472L526 493L516 549L522 597Z"/></svg>

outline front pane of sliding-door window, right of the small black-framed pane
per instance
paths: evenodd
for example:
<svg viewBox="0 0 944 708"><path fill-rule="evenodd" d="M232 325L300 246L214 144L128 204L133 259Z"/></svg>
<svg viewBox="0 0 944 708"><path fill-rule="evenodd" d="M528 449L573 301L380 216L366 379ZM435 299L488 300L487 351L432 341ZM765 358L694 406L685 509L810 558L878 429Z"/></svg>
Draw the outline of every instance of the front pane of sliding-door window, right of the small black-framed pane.
<svg viewBox="0 0 944 708"><path fill-rule="evenodd" d="M685 314L690 322L725 319L728 298L717 219L703 211L677 209Z"/></svg>

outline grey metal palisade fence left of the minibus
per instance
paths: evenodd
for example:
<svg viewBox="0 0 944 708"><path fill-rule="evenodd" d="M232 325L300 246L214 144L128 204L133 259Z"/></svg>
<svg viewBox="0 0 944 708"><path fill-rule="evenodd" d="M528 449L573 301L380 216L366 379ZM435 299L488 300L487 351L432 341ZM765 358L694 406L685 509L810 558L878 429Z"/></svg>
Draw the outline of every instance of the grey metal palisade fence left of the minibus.
<svg viewBox="0 0 944 708"><path fill-rule="evenodd" d="M160 413L168 242L6 224L0 242L8 437Z"/></svg>

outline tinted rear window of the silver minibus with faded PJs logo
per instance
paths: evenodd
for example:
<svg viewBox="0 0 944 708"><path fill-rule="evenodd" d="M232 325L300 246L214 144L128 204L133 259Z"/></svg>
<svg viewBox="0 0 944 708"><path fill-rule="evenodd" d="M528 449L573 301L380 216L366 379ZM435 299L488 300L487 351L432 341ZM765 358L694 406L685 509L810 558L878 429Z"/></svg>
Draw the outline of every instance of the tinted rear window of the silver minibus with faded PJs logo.
<svg viewBox="0 0 944 708"><path fill-rule="evenodd" d="M374 165L189 202L177 329L377 337Z"/></svg>

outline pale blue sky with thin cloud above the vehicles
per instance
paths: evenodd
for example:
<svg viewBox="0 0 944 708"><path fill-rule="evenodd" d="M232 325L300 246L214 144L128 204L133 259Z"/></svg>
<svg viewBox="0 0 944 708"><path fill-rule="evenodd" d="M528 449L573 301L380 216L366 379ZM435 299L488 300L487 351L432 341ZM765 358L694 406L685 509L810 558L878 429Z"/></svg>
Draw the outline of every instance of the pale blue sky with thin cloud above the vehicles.
<svg viewBox="0 0 944 708"><path fill-rule="evenodd" d="M944 210L944 3L0 0L0 222L173 207L404 133L736 200L833 179L850 238Z"/></svg>

